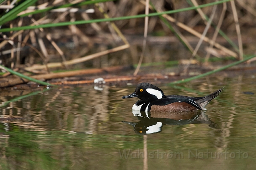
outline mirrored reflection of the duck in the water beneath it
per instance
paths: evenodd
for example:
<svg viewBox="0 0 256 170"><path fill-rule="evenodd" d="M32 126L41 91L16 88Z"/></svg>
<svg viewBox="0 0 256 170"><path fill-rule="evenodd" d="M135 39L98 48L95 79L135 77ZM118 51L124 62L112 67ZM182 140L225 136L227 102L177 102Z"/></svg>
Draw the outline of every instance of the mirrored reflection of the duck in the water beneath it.
<svg viewBox="0 0 256 170"><path fill-rule="evenodd" d="M208 124L210 128L217 128L217 124L208 118L205 111L194 112L140 112L132 111L140 121L122 121L132 125L134 131L140 135L148 135L162 131L164 125Z"/></svg>

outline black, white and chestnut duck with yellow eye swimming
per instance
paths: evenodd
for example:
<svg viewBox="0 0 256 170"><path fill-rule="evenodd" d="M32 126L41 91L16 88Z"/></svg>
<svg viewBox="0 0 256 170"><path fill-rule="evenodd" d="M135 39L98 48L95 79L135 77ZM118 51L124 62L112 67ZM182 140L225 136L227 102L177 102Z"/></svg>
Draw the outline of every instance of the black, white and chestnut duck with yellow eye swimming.
<svg viewBox="0 0 256 170"><path fill-rule="evenodd" d="M224 89L219 89L205 97L188 97L178 95L165 96L164 92L153 84L140 83L135 91L123 98L138 97L138 100L132 107L135 111L145 112L184 112L206 110L204 107L217 97Z"/></svg>

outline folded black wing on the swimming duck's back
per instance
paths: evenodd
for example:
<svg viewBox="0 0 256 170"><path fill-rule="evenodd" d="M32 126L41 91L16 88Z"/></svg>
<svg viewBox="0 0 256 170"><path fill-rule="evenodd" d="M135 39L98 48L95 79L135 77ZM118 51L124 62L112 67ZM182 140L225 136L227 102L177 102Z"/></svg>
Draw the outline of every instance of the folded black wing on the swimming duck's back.
<svg viewBox="0 0 256 170"><path fill-rule="evenodd" d="M190 98L176 98L176 97L161 98L159 100L154 101L154 103L152 103L152 104L158 105L158 106L165 106L167 104L171 104L171 103L175 103L175 102L185 102L199 110L202 110L202 108L199 106L199 104Z"/></svg>

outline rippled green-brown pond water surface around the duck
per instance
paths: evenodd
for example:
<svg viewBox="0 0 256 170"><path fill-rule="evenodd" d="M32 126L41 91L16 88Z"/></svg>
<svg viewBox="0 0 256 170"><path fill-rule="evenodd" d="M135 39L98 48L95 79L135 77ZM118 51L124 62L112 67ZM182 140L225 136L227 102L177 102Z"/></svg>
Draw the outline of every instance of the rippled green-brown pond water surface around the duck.
<svg viewBox="0 0 256 170"><path fill-rule="evenodd" d="M121 97L136 85L63 87L7 103L0 108L1 169L255 169L255 76L158 84L166 95L187 96L225 86L207 111L176 119L134 116L137 98ZM2 92L1 104L17 96ZM135 128L155 120L158 132Z"/></svg>

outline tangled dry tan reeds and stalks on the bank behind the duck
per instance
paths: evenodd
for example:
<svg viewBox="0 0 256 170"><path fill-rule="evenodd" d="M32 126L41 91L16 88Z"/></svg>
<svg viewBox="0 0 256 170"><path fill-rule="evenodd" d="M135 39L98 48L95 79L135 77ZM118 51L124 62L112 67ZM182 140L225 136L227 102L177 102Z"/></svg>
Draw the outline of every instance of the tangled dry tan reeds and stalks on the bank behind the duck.
<svg viewBox="0 0 256 170"><path fill-rule="evenodd" d="M6 13L14 7L16 1L4 1L0 5L0 14ZM82 0L69 0L71 7L56 8L67 4L63 0L42 1L38 0L36 6L30 6L20 12L16 19L2 25L1 29L34 26L47 23L75 22L97 18L114 18L149 13L170 11L191 6L198 6L215 2L214 0L152 0L147 7L143 0L118 0L104 3L82 5ZM77 5L78 4L78 5ZM54 7L41 13L26 16L26 13L36 9ZM188 10L170 15L149 17L146 24L148 43L163 43L171 46L171 42L182 42L188 48L185 59L192 57L205 58L210 55L234 56L240 60L247 53L254 53L255 47L243 46L242 42L253 41L256 24L256 1L236 0L222 4ZM208 16L208 17L206 17ZM164 21L167 21L164 22ZM212 25L212 26L211 26ZM21 72L33 74L46 74L55 69L73 68L105 68L139 62L142 53L143 38L138 38L145 33L144 18L121 19L114 22L98 22L90 24L76 24L61 27L48 27L39 29L22 29L19 31L1 32L0 62L2 65ZM215 26L215 28L214 28ZM219 30L230 37L228 45L223 45L224 38L220 37ZM251 36L248 34L251 33ZM136 35L136 36L135 36ZM152 36L152 35L161 35ZM180 39L174 38L179 37ZM250 39L251 38L251 39ZM196 46L191 45L194 41ZM226 41L226 40L225 40ZM200 49L202 42L207 42L207 47ZM238 45L236 45L238 44ZM248 43L249 44L249 43ZM248 48L247 48L248 47ZM169 48L169 47L167 47ZM126 52L121 52L126 50ZM148 51L147 51L148 50ZM148 47L141 61L158 62L173 60L172 56L165 54L159 57L158 47ZM191 53L189 53L189 51ZM203 54L203 55L202 55ZM119 68L118 68L119 69ZM117 69L117 70L118 70ZM2 68L4 71L4 69ZM79 73L81 74L81 73ZM5 74L7 76L8 74ZM71 76L73 76L72 74ZM62 77L65 77L65 74ZM49 77L48 77L49 78ZM48 79L44 78L44 79ZM50 78L49 78L50 79Z"/></svg>

